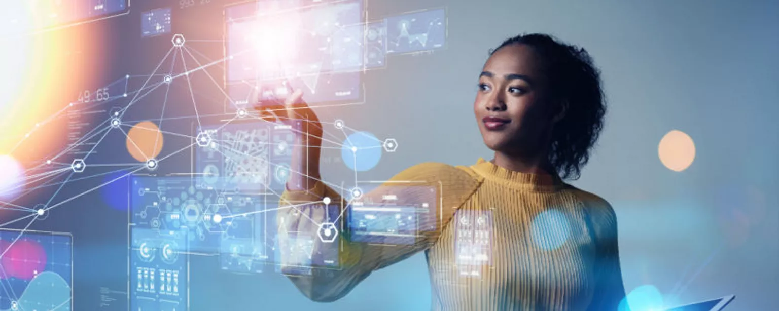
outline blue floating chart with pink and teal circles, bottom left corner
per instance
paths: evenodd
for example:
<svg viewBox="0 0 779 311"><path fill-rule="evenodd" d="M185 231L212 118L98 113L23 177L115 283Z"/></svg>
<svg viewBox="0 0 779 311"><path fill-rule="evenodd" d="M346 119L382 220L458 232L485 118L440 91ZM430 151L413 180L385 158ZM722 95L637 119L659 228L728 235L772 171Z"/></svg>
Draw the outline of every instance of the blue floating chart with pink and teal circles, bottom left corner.
<svg viewBox="0 0 779 311"><path fill-rule="evenodd" d="M72 309L72 236L0 230L0 310Z"/></svg>

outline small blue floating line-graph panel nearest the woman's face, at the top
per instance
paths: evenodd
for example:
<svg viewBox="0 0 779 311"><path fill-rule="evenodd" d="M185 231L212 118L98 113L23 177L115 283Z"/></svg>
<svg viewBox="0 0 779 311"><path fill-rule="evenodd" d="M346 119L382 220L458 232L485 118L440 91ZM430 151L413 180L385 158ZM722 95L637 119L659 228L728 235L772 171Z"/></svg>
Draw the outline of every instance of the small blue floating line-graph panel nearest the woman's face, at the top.
<svg viewBox="0 0 779 311"><path fill-rule="evenodd" d="M446 10L432 9L385 19L387 53L428 51L446 46Z"/></svg>

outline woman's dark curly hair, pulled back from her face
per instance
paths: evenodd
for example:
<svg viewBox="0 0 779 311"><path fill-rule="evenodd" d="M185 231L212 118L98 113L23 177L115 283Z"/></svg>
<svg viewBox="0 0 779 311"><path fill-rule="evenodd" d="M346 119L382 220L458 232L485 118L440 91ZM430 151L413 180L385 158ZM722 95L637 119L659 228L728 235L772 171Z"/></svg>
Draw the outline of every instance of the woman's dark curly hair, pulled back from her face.
<svg viewBox="0 0 779 311"><path fill-rule="evenodd" d="M526 44L541 57L555 103L566 114L552 130L548 162L564 180L577 180L601 135L606 100L601 72L583 47L562 43L547 34L520 34L503 41L489 54L510 44Z"/></svg>

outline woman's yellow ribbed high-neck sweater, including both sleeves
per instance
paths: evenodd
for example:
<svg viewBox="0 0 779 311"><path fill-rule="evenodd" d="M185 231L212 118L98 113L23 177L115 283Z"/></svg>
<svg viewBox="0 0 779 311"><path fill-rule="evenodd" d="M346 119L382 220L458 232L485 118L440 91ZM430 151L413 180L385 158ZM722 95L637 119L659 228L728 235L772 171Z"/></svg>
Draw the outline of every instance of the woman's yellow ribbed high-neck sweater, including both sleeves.
<svg viewBox="0 0 779 311"><path fill-rule="evenodd" d="M340 299L372 271L425 251L434 310L616 310L625 297L615 213L601 197L556 175L515 172L480 158L473 166L412 166L363 199L382 201L383 194L396 194L401 204L413 203L421 197L414 189L425 189L398 190L399 182L438 189L435 217L420 219L435 222L436 229L420 232L415 243L395 246L351 242L347 232L341 234L340 270L291 277L304 295L320 302ZM310 190L284 191L280 204L323 197L342 201L337 191L318 182ZM298 209L308 218L323 219L315 208ZM488 232L469 236L465 229L476 220ZM481 251L483 264L456 253L474 239L488 245Z"/></svg>

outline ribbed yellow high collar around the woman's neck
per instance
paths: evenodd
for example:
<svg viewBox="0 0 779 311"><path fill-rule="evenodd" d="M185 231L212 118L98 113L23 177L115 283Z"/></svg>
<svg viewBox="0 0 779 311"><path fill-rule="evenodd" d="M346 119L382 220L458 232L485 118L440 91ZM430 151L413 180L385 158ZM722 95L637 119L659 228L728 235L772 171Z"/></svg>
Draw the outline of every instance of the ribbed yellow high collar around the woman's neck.
<svg viewBox="0 0 779 311"><path fill-rule="evenodd" d="M483 158L479 158L471 168L487 180L496 181L518 190L554 192L561 189L563 184L556 174L516 172L496 166Z"/></svg>

